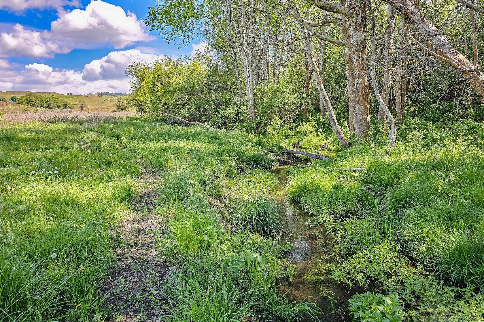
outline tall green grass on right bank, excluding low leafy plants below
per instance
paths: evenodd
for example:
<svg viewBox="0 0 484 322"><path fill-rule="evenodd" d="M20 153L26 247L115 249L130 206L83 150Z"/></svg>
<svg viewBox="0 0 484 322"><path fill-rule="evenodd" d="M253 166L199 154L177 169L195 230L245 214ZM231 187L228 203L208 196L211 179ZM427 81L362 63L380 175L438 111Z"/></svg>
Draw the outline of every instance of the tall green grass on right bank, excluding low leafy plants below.
<svg viewBox="0 0 484 322"><path fill-rule="evenodd" d="M366 168L339 171L335 168ZM330 161L296 170L289 196L328 223L340 218L346 245L396 240L451 283L484 285L484 161L462 152L398 146L352 147Z"/></svg>

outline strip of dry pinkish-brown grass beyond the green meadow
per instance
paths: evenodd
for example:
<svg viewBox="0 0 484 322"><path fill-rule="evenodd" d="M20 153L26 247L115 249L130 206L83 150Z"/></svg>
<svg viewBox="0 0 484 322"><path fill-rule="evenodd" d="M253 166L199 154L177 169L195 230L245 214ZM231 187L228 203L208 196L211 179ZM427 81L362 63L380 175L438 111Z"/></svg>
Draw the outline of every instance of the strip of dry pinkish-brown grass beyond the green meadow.
<svg viewBox="0 0 484 322"><path fill-rule="evenodd" d="M120 118L133 116L133 112L77 112L70 110L40 110L38 112L6 113L0 117L0 125L6 126L18 123L30 123L40 121L44 123L56 121L83 121L86 123L98 123L102 121L114 121Z"/></svg>

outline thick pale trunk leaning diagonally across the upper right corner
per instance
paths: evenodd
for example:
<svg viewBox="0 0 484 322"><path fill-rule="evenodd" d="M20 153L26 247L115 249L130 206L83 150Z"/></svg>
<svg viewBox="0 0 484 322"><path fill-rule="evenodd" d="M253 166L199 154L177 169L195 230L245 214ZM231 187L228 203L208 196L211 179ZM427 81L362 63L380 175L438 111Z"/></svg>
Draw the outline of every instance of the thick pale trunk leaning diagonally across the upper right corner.
<svg viewBox="0 0 484 322"><path fill-rule="evenodd" d="M434 27L415 6L413 0L386 0L392 3L418 32L424 37L424 44L437 58L462 73L467 82L481 95L484 102L484 73L476 70L474 64L462 55L445 38L442 31Z"/></svg>

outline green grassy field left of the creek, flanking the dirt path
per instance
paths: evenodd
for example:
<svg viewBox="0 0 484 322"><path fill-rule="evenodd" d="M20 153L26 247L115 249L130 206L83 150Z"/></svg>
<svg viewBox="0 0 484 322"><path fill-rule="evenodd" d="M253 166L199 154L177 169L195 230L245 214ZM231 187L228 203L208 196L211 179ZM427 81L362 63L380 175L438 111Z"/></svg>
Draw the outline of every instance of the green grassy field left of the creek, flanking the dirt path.
<svg viewBox="0 0 484 322"><path fill-rule="evenodd" d="M0 321L105 321L117 312L103 306L101 285L114 250L129 245L117 231L141 168L161 171L159 256L179 268L163 286L169 301L151 304L168 320L295 321L315 312L276 290L291 270L272 235L276 205L266 193L276 181L264 169L274 160L253 137L136 118L0 131ZM262 238L260 227L274 238Z"/></svg>

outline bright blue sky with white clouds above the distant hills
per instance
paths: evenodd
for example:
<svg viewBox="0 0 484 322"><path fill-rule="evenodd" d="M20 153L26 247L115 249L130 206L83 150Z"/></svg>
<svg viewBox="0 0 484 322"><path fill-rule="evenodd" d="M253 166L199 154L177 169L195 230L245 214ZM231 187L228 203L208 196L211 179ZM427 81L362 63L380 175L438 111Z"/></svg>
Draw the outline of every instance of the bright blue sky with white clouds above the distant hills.
<svg viewBox="0 0 484 322"><path fill-rule="evenodd" d="M203 51L149 31L154 0L0 0L0 91L129 92L130 63Z"/></svg>

